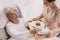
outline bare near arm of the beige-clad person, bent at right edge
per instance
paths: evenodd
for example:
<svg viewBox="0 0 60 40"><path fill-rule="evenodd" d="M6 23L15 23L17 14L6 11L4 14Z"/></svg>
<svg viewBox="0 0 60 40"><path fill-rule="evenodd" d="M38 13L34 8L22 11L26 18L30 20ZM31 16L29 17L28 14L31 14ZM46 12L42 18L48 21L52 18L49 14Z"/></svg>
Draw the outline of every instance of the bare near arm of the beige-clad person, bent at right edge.
<svg viewBox="0 0 60 40"><path fill-rule="evenodd" d="M59 12L57 12L57 15L56 15L56 17L55 17L55 22L54 22L55 24L55 29L53 29L53 30L50 30L50 33L51 34L56 34L56 33L60 33L60 11Z"/></svg>

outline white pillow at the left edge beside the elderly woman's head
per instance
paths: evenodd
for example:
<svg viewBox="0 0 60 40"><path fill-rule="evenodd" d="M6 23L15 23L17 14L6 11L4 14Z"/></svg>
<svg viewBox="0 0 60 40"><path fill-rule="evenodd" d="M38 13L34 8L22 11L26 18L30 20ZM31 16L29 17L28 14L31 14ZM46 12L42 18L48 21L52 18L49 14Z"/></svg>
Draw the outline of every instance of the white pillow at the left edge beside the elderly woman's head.
<svg viewBox="0 0 60 40"><path fill-rule="evenodd" d="M7 16L2 10L0 10L0 28L5 27L7 21L8 21Z"/></svg>

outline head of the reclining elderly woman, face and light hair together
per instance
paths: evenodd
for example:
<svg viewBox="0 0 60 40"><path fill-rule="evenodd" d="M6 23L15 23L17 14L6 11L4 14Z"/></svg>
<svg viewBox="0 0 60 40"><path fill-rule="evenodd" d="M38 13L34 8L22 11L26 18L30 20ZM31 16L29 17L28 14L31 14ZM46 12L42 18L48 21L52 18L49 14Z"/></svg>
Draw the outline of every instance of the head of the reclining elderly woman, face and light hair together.
<svg viewBox="0 0 60 40"><path fill-rule="evenodd" d="M7 12L7 17L13 23L17 23L18 22L18 13L17 13L17 10L16 9L10 9Z"/></svg>

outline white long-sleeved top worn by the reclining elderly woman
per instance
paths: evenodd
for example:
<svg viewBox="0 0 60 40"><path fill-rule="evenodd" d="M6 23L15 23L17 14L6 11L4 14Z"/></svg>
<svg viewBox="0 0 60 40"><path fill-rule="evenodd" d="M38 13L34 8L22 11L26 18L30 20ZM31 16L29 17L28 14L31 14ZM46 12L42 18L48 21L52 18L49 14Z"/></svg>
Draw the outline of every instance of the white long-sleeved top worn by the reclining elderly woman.
<svg viewBox="0 0 60 40"><path fill-rule="evenodd" d="M19 18L19 24L14 24L9 21L6 25L6 28L7 33L13 38L21 40L29 40L29 39L34 40L30 32L25 28L23 18Z"/></svg>

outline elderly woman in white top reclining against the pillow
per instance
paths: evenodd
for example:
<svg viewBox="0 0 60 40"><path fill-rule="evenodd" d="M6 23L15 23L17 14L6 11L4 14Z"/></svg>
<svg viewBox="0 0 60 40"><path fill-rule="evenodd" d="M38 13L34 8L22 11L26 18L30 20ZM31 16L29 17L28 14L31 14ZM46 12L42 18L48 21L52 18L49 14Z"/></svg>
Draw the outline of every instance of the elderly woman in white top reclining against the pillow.
<svg viewBox="0 0 60 40"><path fill-rule="evenodd" d="M9 22L6 25L7 33L15 40L34 40L26 29L23 18L18 18L17 10L13 7L6 9Z"/></svg>

